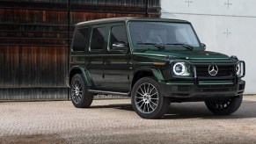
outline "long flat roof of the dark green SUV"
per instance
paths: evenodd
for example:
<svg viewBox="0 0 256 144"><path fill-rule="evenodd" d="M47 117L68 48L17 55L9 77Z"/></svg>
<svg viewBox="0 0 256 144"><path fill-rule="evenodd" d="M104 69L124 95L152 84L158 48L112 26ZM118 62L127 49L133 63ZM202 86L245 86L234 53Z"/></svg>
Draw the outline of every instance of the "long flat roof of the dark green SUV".
<svg viewBox="0 0 256 144"><path fill-rule="evenodd" d="M128 22L128 21L162 21L162 22L176 22L176 23L190 23L187 20L182 19L170 19L170 18L129 18L129 17L121 17L121 18L102 18L96 20L89 20L78 23L76 26L82 25L98 25L98 24L106 24L106 23L115 23L115 22Z"/></svg>

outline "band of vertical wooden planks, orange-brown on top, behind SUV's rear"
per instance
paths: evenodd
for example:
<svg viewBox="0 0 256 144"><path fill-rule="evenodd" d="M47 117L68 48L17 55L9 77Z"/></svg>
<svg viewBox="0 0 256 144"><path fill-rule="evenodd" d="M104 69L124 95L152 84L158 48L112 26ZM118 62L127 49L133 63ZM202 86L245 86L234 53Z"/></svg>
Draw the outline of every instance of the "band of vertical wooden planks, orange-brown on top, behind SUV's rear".
<svg viewBox="0 0 256 144"><path fill-rule="evenodd" d="M0 87L65 87L67 47L0 47Z"/></svg>

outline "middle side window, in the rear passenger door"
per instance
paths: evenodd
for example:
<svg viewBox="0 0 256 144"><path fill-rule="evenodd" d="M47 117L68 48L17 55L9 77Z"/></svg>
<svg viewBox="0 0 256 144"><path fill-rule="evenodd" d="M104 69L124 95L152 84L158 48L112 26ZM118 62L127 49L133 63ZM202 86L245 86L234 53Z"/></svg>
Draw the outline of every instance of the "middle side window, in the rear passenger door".
<svg viewBox="0 0 256 144"><path fill-rule="evenodd" d="M106 27L92 29L91 50L102 50L106 37Z"/></svg>

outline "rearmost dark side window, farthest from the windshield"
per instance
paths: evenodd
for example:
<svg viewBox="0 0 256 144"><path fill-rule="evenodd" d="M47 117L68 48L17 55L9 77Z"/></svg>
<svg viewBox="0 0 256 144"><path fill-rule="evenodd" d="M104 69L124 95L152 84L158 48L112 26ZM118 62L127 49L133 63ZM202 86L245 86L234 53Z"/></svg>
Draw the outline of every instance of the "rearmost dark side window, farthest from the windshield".
<svg viewBox="0 0 256 144"><path fill-rule="evenodd" d="M81 28L75 31L73 51L84 51L88 41L88 28Z"/></svg>

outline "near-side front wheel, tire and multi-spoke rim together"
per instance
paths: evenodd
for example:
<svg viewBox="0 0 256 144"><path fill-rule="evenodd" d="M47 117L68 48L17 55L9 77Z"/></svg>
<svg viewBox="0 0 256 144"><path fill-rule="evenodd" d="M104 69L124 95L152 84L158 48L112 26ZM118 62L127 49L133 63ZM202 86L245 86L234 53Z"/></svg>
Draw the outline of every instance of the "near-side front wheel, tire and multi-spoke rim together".
<svg viewBox="0 0 256 144"><path fill-rule="evenodd" d="M162 118L170 107L169 98L162 95L159 83L153 77L138 80L131 96L135 112L143 119Z"/></svg>

